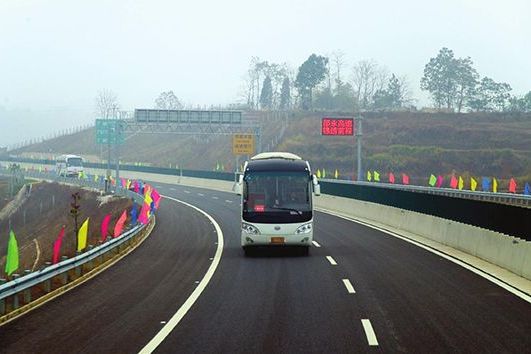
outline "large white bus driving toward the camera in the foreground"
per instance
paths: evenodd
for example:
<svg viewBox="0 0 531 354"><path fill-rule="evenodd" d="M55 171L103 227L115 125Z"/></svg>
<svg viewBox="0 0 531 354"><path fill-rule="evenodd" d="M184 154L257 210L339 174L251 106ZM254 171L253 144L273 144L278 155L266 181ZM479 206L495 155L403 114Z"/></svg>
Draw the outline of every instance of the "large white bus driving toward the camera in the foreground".
<svg viewBox="0 0 531 354"><path fill-rule="evenodd" d="M244 165L235 185L242 195L241 246L300 246L313 240L313 194L320 194L308 161L286 152L261 153Z"/></svg>

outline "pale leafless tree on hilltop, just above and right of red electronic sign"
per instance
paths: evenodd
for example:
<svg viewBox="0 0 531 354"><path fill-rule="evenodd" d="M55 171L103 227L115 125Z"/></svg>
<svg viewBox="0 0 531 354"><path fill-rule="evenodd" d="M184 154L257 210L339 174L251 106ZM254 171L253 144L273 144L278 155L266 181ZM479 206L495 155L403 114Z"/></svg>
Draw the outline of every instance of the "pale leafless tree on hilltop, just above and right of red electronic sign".
<svg viewBox="0 0 531 354"><path fill-rule="evenodd" d="M385 88L389 74L374 60L362 60L353 67L352 86L355 101L360 109L367 109L373 101L374 94Z"/></svg>

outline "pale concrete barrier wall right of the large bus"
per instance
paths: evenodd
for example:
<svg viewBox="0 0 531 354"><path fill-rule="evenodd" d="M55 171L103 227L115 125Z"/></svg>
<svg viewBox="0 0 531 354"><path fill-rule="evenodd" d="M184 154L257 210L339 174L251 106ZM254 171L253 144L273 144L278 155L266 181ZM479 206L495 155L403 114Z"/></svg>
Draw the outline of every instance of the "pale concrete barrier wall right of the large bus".
<svg viewBox="0 0 531 354"><path fill-rule="evenodd" d="M381 225L463 251L531 280L531 242L436 216L409 210L321 195L315 206L338 214Z"/></svg>

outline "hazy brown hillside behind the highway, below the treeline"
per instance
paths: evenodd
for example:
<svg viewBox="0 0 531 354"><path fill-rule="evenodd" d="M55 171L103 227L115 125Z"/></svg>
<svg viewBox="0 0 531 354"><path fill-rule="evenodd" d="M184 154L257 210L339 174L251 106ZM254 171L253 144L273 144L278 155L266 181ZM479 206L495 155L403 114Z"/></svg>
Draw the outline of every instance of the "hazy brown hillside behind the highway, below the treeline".
<svg viewBox="0 0 531 354"><path fill-rule="evenodd" d="M264 125L264 149L291 151L317 169L339 170L352 178L355 170L353 137L320 135L323 113L292 113L278 142L282 121L254 113ZM413 178L431 173L511 176L531 180L531 114L388 112L364 114L364 169L407 172ZM15 151L25 156L81 154L100 161L105 151L95 145L92 129ZM121 147L122 161L158 166L212 170L217 162L234 166L230 136L141 134Z"/></svg>

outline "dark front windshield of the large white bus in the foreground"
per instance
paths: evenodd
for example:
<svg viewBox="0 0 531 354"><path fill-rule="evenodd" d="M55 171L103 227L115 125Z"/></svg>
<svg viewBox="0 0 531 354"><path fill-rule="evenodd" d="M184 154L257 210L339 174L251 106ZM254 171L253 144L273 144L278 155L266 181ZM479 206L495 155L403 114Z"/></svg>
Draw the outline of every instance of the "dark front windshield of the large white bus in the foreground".
<svg viewBox="0 0 531 354"><path fill-rule="evenodd" d="M248 172L243 181L244 220L259 223L311 220L312 201L308 172Z"/></svg>

